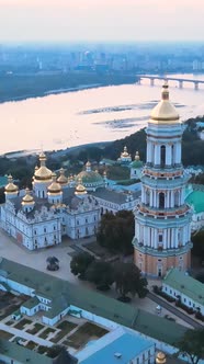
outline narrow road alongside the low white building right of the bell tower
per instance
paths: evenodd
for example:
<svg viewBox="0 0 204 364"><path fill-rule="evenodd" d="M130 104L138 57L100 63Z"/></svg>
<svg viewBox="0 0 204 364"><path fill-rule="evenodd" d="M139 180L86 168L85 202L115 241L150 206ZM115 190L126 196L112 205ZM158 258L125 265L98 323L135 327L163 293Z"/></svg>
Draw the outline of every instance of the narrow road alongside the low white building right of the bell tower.
<svg viewBox="0 0 204 364"><path fill-rule="evenodd" d="M195 321L190 316L181 312L177 307L170 305L169 303L165 302L162 298L156 296L155 294L152 294L152 293L149 292L148 295L147 295L147 297L149 297L156 304L158 304L161 307L166 308L168 311L170 311L171 314L175 315L177 317L179 317L183 321L185 321L189 325L191 325L194 329L203 329L203 325L202 323Z"/></svg>

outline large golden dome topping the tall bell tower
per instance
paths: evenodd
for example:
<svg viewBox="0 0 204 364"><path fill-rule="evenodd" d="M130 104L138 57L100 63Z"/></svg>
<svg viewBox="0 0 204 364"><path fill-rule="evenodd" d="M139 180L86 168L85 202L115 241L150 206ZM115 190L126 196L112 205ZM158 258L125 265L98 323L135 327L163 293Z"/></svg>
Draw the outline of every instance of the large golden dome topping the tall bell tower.
<svg viewBox="0 0 204 364"><path fill-rule="evenodd" d="M161 101L154 107L150 115L150 123L170 124L178 123L179 114L172 103L169 101L169 86L167 81L162 87Z"/></svg>

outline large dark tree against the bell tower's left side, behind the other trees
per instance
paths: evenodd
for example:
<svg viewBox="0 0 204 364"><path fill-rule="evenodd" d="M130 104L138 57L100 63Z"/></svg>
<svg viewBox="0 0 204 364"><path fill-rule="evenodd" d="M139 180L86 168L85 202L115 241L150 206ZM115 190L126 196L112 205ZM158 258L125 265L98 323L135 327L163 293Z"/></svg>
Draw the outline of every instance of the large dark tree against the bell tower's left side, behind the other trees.
<svg viewBox="0 0 204 364"><path fill-rule="evenodd" d="M131 254L133 253L134 230L133 212L121 211L115 215L106 213L101 218L97 239L102 247L112 252Z"/></svg>

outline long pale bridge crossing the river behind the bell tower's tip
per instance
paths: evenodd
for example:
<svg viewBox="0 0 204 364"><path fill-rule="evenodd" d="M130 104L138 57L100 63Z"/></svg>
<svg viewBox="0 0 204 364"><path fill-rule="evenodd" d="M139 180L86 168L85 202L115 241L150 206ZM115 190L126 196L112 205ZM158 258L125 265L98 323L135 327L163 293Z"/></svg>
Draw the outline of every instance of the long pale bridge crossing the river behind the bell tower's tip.
<svg viewBox="0 0 204 364"><path fill-rule="evenodd" d="M183 89L183 83L190 82L194 84L194 90L199 90L199 86L204 83L204 80L195 80L195 79L186 79L186 78L177 78L177 77L166 77L166 76L150 76L150 75L137 75L138 83L141 83L143 79L148 79L150 81L150 86L155 86L156 80L167 80L167 81L178 81L178 86L180 89Z"/></svg>

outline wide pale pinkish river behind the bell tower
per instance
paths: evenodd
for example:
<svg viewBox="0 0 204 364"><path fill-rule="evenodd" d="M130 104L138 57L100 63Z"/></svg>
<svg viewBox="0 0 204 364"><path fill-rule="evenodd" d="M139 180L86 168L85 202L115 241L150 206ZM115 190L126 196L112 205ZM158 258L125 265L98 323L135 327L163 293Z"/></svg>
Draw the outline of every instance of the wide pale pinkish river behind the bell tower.
<svg viewBox="0 0 204 364"><path fill-rule="evenodd" d="M193 75L171 75L193 78ZM196 76L204 80L204 75ZM203 88L203 89L202 89ZM0 153L58 150L123 138L146 126L160 100L161 82L102 87L0 104ZM170 99L181 120L204 114L204 86L182 90L170 82Z"/></svg>

